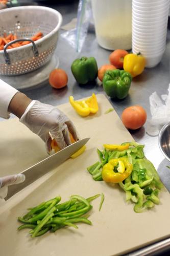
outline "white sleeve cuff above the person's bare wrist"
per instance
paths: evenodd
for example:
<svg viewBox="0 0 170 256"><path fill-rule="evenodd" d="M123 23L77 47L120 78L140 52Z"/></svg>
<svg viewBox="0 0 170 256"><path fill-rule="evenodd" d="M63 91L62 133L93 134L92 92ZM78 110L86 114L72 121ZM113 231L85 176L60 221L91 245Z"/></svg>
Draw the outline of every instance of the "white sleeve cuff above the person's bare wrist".
<svg viewBox="0 0 170 256"><path fill-rule="evenodd" d="M0 79L0 117L9 118L8 106L11 99L18 91Z"/></svg>

